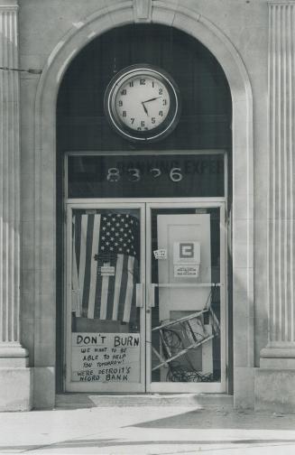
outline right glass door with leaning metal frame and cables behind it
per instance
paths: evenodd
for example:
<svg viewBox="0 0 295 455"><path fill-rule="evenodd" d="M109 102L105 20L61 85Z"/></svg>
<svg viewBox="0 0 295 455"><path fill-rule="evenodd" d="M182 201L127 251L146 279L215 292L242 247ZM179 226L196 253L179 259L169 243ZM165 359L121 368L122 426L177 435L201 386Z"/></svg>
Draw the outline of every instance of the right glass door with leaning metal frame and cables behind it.
<svg viewBox="0 0 295 455"><path fill-rule="evenodd" d="M147 391L226 392L225 204L147 205Z"/></svg>

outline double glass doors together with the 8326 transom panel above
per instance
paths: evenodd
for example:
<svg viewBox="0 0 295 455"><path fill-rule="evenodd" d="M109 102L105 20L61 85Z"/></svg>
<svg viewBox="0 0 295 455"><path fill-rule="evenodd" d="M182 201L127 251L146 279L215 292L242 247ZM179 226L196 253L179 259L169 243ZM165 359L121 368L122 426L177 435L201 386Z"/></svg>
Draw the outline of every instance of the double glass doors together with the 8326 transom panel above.
<svg viewBox="0 0 295 455"><path fill-rule="evenodd" d="M65 175L64 389L226 392L226 153L68 153Z"/></svg>

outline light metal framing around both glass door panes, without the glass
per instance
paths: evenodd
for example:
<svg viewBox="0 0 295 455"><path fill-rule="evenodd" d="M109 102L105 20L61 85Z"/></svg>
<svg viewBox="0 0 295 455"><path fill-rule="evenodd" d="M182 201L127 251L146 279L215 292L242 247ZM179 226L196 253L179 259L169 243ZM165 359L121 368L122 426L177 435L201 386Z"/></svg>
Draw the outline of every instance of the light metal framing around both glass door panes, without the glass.
<svg viewBox="0 0 295 455"><path fill-rule="evenodd" d="M64 242L64 354L63 354L63 386L66 392L86 393L226 393L227 392L227 357L228 357L228 311L227 311L227 231L226 231L226 198L179 198L171 202L171 198L161 199L72 199L65 201L66 207L66 240ZM201 209L219 208L220 213L220 280L224 278L224 285L220 286L220 300L223 311L221 324L221 382L220 383L152 383L151 358L151 317L148 317L150 294L147 283L151 283L151 211L156 208ZM143 285L143 305L140 316L141 339L141 382L118 383L118 390L114 390L115 383L72 382L71 376L71 214L72 209L140 209L141 212L141 283ZM222 266L224 265L224 266Z"/></svg>

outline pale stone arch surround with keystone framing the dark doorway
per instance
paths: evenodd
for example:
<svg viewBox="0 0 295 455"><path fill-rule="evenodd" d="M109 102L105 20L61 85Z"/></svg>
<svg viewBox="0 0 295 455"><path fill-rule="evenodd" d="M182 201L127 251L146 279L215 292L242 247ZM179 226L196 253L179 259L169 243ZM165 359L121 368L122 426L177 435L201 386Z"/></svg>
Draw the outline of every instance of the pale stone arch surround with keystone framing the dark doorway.
<svg viewBox="0 0 295 455"><path fill-rule="evenodd" d="M134 22L170 25L187 32L211 51L225 71L233 100L233 298L234 298L234 384L235 405L253 406L246 397L254 388L254 292L253 292L253 107L252 90L234 45L216 25L201 14L169 2L123 1L92 14L57 44L47 60L37 90L35 105L35 219L34 262L35 330L48 333L48 365L36 364L35 377L46 383L46 403L55 401L55 231L56 231L56 101L62 76L71 60L98 34ZM242 334L242 335L241 335ZM235 343L243 336L244 344ZM43 346L35 346L41 358ZM40 352L38 352L40 350ZM249 391L249 393L247 392ZM44 400L44 399L43 399Z"/></svg>

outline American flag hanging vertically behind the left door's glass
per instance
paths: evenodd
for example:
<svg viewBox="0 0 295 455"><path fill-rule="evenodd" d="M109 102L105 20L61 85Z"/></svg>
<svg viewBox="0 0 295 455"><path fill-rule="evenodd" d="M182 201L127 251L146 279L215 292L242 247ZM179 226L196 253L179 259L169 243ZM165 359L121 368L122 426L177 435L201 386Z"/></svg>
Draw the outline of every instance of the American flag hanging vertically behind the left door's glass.
<svg viewBox="0 0 295 455"><path fill-rule="evenodd" d="M73 217L72 310L88 319L135 320L139 221L124 213Z"/></svg>

